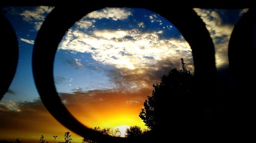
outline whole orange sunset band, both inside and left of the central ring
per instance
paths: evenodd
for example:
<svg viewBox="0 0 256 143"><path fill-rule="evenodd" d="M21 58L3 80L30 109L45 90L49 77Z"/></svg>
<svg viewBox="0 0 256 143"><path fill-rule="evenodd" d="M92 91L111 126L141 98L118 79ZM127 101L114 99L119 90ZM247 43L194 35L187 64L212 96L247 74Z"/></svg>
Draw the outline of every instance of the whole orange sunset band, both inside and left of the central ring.
<svg viewBox="0 0 256 143"><path fill-rule="evenodd" d="M62 93L60 97L72 115L89 127L116 127L122 125L139 125L144 123L138 114L143 102L151 90L140 90L134 93L122 93L113 90L94 90L81 92L79 89L72 94ZM11 109L11 106L17 108ZM0 102L0 133L7 140L17 137L24 142L35 142L43 134L49 142L52 135L63 136L68 131L58 123L47 111L39 99L32 102ZM71 132L72 133L72 132ZM72 133L74 141L81 137ZM56 138L63 142L63 138ZM31 141L32 140L32 141Z"/></svg>

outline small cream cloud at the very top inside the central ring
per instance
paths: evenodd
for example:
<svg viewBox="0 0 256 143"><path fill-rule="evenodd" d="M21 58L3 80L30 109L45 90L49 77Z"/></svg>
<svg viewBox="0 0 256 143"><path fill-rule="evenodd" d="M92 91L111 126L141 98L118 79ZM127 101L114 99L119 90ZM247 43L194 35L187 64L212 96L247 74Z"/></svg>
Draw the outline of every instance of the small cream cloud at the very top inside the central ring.
<svg viewBox="0 0 256 143"><path fill-rule="evenodd" d="M87 15L89 18L95 19L112 19L112 20L124 20L132 15L130 9L127 8L104 8L99 11L93 11Z"/></svg>

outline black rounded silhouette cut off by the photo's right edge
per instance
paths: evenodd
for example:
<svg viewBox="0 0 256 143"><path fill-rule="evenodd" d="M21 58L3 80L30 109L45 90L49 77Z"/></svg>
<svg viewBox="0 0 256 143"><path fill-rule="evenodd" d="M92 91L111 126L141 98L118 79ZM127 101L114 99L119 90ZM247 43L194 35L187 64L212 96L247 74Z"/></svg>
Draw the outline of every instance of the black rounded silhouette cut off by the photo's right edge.
<svg viewBox="0 0 256 143"><path fill-rule="evenodd" d="M256 96L253 94L256 81L255 27L255 10L249 9L234 25L228 45L229 69L235 81L235 90L231 93L232 106L236 107L236 113L233 115L243 117L240 122L246 120L240 125L241 128L245 125L256 127Z"/></svg>

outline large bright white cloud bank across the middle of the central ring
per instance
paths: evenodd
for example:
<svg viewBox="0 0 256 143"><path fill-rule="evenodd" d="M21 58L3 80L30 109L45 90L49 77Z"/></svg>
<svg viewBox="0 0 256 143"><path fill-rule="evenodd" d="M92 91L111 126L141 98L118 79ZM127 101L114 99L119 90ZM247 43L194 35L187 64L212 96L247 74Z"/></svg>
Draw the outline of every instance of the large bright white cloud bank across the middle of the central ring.
<svg viewBox="0 0 256 143"><path fill-rule="evenodd" d="M109 13L106 12L109 9L101 12ZM150 16L155 22L162 22L156 14ZM182 36L166 38L163 35L168 30L162 26L156 31L144 30L143 21L136 21L130 29L116 30L95 28L96 21L88 19L88 15L83 17L66 33L58 49L90 53L93 60L111 67L103 71L115 83L113 89L131 92L151 88L168 70L180 68L180 58L186 60L187 68L193 72L191 49ZM169 28L175 27L169 25ZM82 66L82 59L73 58L72 63Z"/></svg>

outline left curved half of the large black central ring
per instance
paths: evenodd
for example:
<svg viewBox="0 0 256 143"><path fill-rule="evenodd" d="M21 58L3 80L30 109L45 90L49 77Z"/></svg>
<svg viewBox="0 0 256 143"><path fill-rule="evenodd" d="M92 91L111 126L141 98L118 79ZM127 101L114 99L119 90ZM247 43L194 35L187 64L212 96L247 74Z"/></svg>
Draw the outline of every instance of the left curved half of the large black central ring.
<svg viewBox="0 0 256 143"><path fill-rule="evenodd" d="M99 8L98 8L99 9ZM48 111L62 125L97 142L125 142L124 138L102 135L78 122L67 110L56 92L53 79L54 57L66 31L80 18L95 9L55 8L38 31L33 50L33 75L40 98Z"/></svg>

